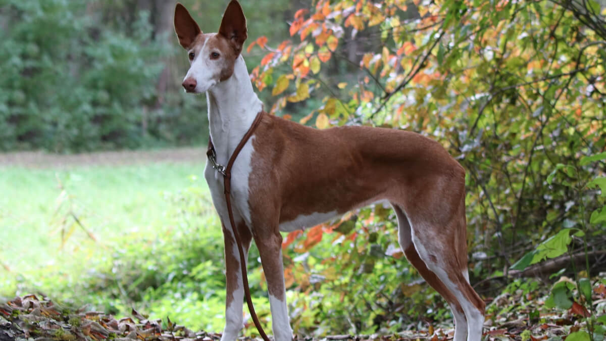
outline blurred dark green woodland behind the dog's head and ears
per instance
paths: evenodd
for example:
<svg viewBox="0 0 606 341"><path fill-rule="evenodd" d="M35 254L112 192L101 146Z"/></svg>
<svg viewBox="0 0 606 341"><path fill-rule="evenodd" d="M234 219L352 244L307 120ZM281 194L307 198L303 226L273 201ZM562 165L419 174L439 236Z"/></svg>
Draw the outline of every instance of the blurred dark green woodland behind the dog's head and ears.
<svg viewBox="0 0 606 341"><path fill-rule="evenodd" d="M183 1L216 32L225 1ZM185 96L176 1L2 0L0 150L200 144L204 96ZM250 36L287 37L288 1L245 4ZM270 20L282 25L267 25ZM250 65L261 56L250 56Z"/></svg>

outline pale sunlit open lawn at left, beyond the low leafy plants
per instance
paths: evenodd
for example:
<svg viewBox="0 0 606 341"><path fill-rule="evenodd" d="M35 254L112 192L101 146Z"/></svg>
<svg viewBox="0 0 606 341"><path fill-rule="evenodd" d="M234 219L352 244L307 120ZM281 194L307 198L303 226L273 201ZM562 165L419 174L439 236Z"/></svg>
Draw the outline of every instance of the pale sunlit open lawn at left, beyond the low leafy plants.
<svg viewBox="0 0 606 341"><path fill-rule="evenodd" d="M74 252L91 255L119 243L120 235L164 231L171 224L167 195L191 186L203 169L203 163L1 167L0 240L8 242L0 249L0 260L13 271L27 272L64 262ZM96 241L72 225L70 204ZM62 230L68 237L63 248Z"/></svg>

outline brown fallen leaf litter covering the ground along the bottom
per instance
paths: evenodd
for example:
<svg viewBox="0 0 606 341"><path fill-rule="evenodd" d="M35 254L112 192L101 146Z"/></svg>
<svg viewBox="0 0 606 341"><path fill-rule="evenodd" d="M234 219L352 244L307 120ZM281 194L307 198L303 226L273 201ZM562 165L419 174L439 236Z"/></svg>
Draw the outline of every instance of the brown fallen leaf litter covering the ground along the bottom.
<svg viewBox="0 0 606 341"><path fill-rule="evenodd" d="M602 320L606 314L606 288L593 289L593 309L588 311L573 301L570 309L545 308L546 295L521 290L504 292L491 300L484 324L484 340L584 340L587 317L591 314ZM130 317L116 317L99 311L85 311L57 305L48 297L25 295L0 303L0 341L8 340L201 340L221 339L219 333L194 332L170 320L150 320L132 309ZM319 340L451 340L452 326L442 328L428 324L426 330L405 331L391 336L334 335ZM604 328L599 325L596 331ZM595 340L604 337L594 333ZM260 340L241 337L239 340ZM312 341L313 337L295 337Z"/></svg>

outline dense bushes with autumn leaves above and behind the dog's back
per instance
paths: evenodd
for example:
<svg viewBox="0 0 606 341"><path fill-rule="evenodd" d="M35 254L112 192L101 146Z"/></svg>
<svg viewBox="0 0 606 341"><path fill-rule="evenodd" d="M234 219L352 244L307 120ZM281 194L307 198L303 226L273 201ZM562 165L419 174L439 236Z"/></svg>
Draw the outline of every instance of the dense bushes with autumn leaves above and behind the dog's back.
<svg viewBox="0 0 606 341"><path fill-rule="evenodd" d="M276 115L312 99L301 121L321 129L367 124L440 141L467 170L474 274L507 273L561 229L591 235L590 251L606 242L606 21L599 5L583 6L321 0L296 13L290 41L266 48L253 81L273 88ZM583 245L577 237L571 249Z"/></svg>

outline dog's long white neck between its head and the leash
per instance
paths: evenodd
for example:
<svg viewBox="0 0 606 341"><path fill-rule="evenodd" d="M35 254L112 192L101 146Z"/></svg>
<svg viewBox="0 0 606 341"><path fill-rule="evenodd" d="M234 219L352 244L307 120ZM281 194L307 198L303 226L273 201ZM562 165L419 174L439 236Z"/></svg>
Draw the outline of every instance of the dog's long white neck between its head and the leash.
<svg viewBox="0 0 606 341"><path fill-rule="evenodd" d="M208 90L206 99L210 138L217 161L227 165L233 150L263 109L241 55L236 59L233 75Z"/></svg>

